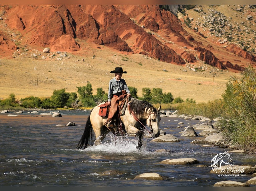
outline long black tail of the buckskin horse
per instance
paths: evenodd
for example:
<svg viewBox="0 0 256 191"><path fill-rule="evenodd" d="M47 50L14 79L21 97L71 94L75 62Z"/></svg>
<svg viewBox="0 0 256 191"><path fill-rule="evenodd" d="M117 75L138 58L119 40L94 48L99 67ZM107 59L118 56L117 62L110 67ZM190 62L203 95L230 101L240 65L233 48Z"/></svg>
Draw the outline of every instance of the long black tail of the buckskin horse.
<svg viewBox="0 0 256 191"><path fill-rule="evenodd" d="M88 116L88 119L85 124L84 133L83 133L80 141L78 142L76 149L82 148L84 144L85 144L85 147L83 149L85 149L88 146L89 139L91 139L91 144L93 145L95 137L94 137L93 128L92 128L92 124L91 124L91 120L90 120L90 115Z"/></svg>

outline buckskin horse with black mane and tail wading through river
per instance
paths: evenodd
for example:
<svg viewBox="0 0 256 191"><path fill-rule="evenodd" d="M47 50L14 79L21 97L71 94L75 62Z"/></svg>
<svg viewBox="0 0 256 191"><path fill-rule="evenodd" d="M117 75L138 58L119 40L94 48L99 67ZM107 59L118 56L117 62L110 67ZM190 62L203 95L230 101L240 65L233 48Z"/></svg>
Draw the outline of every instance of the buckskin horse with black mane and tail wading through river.
<svg viewBox="0 0 256 191"><path fill-rule="evenodd" d="M99 106L102 104L103 103L100 103L94 107L88 116L84 133L78 142L76 149L82 149L83 146L83 149L85 149L89 145L89 140L94 146L101 144L101 141L110 131L112 131L116 136L121 136L123 133L135 134L139 139L138 146L136 146L137 149L140 149L142 146L142 138L145 130L152 134L153 137L158 137L160 135L159 122L161 117L159 111L161 106L156 109L147 101L141 101L133 97L126 97L123 100L123 109L122 111L119 111L123 128L123 131L120 133L120 126L115 126L115 129L111 130L105 126L107 116L101 117L99 115ZM145 125L148 125L150 130L148 130ZM95 133L95 137L92 130Z"/></svg>

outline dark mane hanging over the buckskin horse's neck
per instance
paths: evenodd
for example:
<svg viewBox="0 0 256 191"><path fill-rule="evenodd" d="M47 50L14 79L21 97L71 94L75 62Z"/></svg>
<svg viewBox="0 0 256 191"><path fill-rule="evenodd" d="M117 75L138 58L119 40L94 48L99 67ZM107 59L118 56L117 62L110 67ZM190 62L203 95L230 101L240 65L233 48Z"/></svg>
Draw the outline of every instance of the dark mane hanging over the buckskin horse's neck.
<svg viewBox="0 0 256 191"><path fill-rule="evenodd" d="M135 113L137 117L143 117L145 114L148 114L149 112L157 113L156 108L153 107L152 104L150 104L148 101L142 101L133 97L130 97L129 99L130 108Z"/></svg>

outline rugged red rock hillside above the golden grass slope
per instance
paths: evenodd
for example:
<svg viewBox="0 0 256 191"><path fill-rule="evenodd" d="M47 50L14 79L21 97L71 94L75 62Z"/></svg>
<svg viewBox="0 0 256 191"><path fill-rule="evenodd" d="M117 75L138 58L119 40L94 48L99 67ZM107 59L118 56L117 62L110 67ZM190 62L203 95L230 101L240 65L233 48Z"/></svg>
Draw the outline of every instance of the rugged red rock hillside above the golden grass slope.
<svg viewBox="0 0 256 191"><path fill-rule="evenodd" d="M191 68L239 71L256 64L255 12L251 5L1 5L0 57L46 47L84 55L88 43Z"/></svg>

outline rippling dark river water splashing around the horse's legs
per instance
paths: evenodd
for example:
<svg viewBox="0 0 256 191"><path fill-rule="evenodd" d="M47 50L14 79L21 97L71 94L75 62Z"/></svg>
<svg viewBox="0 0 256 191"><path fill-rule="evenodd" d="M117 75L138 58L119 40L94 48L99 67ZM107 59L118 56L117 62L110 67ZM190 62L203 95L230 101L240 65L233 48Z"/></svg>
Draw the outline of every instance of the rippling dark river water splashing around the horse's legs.
<svg viewBox="0 0 256 191"><path fill-rule="evenodd" d="M31 114L27 111L17 114L17 117L8 117L8 113L0 114L1 186L204 187L223 180L246 182L252 178L252 175L220 177L210 173L211 159L229 149L191 144L196 137L181 137L180 131L188 125L197 124L198 120L162 117L160 128L179 138L180 142L150 142L152 138L144 137L143 146L137 151L137 138L116 138L109 133L102 145L77 150L75 148L83 134L89 111L60 112L62 117ZM76 126L56 126L69 122L74 122ZM184 125L178 125L179 122ZM199 134L200 131L196 132ZM170 152L154 152L158 149ZM235 165L256 164L255 155L230 155ZM196 158L199 163L159 164L165 159L190 157ZM136 175L146 172L158 173L164 180L134 180Z"/></svg>

